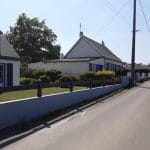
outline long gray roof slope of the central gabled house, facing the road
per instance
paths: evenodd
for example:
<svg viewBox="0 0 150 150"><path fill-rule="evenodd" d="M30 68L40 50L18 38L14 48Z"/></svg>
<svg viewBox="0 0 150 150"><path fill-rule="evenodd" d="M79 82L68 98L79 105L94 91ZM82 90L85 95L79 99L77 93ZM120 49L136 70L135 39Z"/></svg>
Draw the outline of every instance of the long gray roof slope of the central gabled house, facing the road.
<svg viewBox="0 0 150 150"><path fill-rule="evenodd" d="M100 55L102 55L105 58L109 58L112 60L116 60L119 62L122 62L120 58L118 58L111 50L109 50L105 45L102 45L86 36L83 36L84 40L86 40L87 42L89 42L92 46L94 46L97 51L100 53Z"/></svg>

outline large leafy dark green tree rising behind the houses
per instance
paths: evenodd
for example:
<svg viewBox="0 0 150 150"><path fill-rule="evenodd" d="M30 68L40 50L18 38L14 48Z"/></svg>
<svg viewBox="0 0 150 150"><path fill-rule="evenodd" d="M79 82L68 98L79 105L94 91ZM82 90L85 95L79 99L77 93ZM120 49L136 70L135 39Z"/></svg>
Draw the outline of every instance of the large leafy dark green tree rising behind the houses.
<svg viewBox="0 0 150 150"><path fill-rule="evenodd" d="M60 46L55 45L57 36L44 20L29 18L22 13L6 37L21 57L31 57L32 62L59 58Z"/></svg>

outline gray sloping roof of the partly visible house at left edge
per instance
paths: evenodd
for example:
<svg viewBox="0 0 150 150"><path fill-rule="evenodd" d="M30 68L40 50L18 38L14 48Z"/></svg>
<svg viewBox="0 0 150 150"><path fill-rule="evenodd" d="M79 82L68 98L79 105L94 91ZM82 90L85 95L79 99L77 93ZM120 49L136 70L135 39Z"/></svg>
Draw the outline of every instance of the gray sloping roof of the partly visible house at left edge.
<svg viewBox="0 0 150 150"><path fill-rule="evenodd" d="M20 56L10 45L10 43L3 34L0 34L0 57L20 59Z"/></svg>

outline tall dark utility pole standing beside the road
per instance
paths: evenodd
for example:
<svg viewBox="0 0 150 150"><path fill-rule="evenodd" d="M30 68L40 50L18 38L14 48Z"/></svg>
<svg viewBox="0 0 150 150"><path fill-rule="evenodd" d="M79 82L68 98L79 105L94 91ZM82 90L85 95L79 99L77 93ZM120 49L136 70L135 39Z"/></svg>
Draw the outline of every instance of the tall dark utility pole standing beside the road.
<svg viewBox="0 0 150 150"><path fill-rule="evenodd" d="M136 40L136 0L133 0L133 37L131 57L131 86L135 83L135 40Z"/></svg>

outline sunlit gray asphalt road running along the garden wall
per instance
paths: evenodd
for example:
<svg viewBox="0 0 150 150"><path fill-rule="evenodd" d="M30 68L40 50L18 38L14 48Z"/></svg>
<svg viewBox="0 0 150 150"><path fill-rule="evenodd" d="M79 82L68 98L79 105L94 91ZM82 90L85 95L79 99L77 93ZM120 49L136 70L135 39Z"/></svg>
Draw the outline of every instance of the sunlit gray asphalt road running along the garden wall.
<svg viewBox="0 0 150 150"><path fill-rule="evenodd" d="M4 150L150 150L150 82L125 90Z"/></svg>

